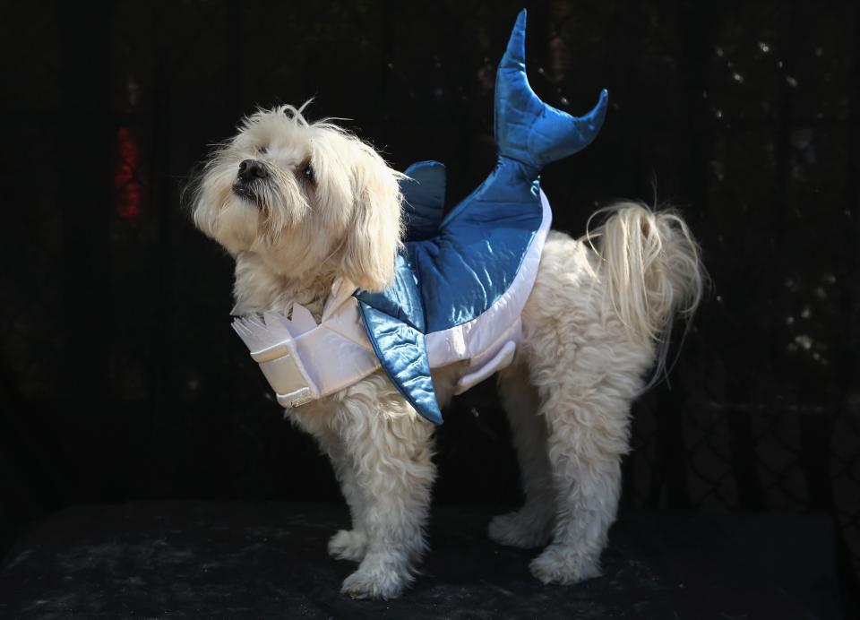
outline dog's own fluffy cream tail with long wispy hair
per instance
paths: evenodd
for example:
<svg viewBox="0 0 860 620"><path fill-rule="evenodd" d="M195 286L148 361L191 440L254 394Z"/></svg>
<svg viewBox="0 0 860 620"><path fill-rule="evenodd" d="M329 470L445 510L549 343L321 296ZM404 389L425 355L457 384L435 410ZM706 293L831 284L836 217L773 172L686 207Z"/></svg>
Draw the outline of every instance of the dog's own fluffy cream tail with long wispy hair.
<svg viewBox="0 0 860 620"><path fill-rule="evenodd" d="M590 230L606 279L604 310L618 316L630 336L656 341L652 383L665 371L669 336L676 316L687 321L699 306L705 271L699 245L674 211L652 211L636 202L619 202Z"/></svg>

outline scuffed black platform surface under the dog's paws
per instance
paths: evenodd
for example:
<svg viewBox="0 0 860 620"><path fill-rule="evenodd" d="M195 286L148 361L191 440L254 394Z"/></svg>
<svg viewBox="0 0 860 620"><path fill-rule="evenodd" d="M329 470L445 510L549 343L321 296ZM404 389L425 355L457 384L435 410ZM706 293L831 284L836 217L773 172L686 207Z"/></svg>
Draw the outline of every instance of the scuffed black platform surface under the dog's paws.
<svg viewBox="0 0 860 620"><path fill-rule="evenodd" d="M494 512L434 508L431 551L416 585L397 600L356 601L339 593L354 564L326 555L328 538L348 522L340 506L74 507L6 556L0 616L838 617L832 530L824 519L632 515L613 527L604 576L563 587L531 577L534 552L486 538Z"/></svg>

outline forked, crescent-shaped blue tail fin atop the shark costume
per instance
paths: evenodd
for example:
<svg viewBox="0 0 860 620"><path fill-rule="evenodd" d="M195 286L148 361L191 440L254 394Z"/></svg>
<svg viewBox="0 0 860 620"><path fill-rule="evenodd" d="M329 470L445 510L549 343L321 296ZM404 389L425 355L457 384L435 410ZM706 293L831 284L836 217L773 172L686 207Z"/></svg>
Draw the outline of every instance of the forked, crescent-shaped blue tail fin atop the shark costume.
<svg viewBox="0 0 860 620"><path fill-rule="evenodd" d="M526 11L513 27L495 76L495 142L499 153L540 170L581 151L595 139L606 117L606 90L585 116L546 105L526 75Z"/></svg>

